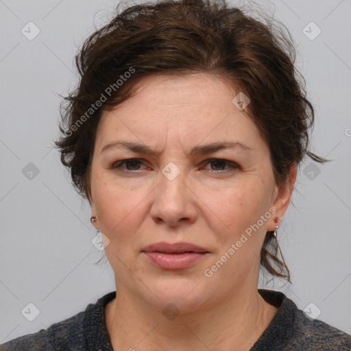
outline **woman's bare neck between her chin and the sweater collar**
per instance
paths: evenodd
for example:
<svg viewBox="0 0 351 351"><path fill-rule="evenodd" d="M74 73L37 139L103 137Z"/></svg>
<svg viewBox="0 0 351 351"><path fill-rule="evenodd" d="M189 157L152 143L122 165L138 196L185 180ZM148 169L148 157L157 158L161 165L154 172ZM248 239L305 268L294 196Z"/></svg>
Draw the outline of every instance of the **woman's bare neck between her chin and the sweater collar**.
<svg viewBox="0 0 351 351"><path fill-rule="evenodd" d="M277 310L252 289L232 294L219 306L167 318L162 309L145 304L120 287L105 313L114 350L247 351Z"/></svg>

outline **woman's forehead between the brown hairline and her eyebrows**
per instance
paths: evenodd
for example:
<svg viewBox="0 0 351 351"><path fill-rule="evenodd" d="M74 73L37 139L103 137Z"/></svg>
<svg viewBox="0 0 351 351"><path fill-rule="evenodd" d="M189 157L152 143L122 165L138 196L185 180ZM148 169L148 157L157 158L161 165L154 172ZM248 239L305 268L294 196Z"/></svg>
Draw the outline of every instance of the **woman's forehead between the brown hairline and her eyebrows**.
<svg viewBox="0 0 351 351"><path fill-rule="evenodd" d="M117 134L139 142L152 142L155 136L187 143L259 138L252 119L232 102L238 90L216 75L149 75L133 91L114 110L103 112L99 139L112 141Z"/></svg>

